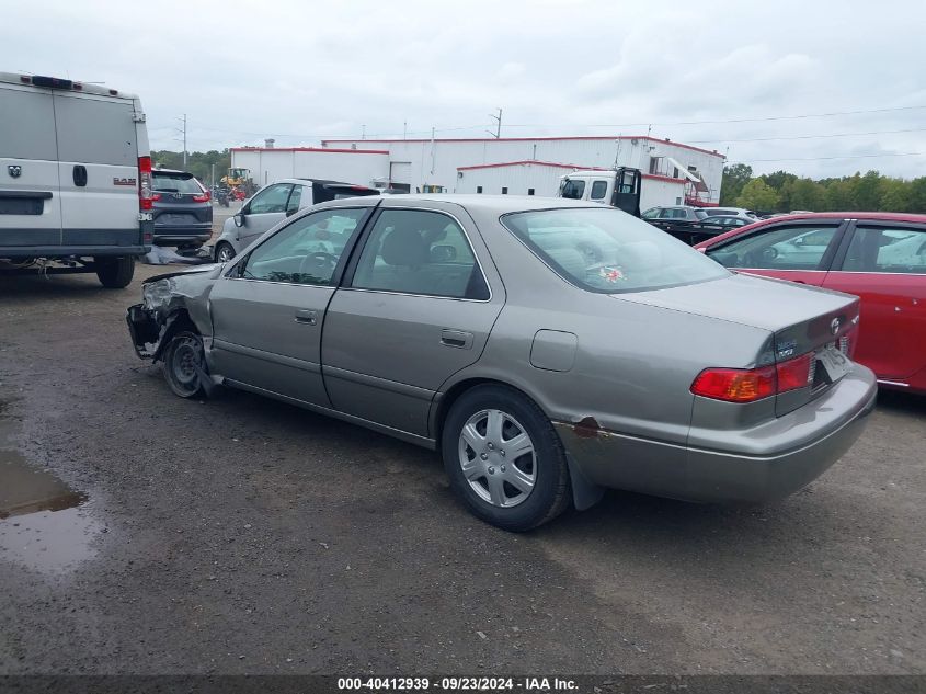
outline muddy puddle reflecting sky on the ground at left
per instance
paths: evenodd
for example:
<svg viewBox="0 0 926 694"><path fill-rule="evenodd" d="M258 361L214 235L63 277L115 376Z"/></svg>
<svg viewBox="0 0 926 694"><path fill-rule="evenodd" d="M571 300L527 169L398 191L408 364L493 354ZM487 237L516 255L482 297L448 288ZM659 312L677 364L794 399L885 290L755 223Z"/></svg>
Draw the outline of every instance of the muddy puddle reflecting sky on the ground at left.
<svg viewBox="0 0 926 694"><path fill-rule="evenodd" d="M15 451L0 450L0 561L61 573L93 557L91 543L105 528L85 502Z"/></svg>

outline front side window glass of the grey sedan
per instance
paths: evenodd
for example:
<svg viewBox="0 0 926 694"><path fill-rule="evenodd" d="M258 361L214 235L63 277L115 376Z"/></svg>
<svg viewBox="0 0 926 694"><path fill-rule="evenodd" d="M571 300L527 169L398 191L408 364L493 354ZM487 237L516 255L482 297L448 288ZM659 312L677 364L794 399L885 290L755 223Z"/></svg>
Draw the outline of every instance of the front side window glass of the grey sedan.
<svg viewBox="0 0 926 694"><path fill-rule="evenodd" d="M244 261L245 280L331 286L334 269L366 209L325 209L274 234Z"/></svg>

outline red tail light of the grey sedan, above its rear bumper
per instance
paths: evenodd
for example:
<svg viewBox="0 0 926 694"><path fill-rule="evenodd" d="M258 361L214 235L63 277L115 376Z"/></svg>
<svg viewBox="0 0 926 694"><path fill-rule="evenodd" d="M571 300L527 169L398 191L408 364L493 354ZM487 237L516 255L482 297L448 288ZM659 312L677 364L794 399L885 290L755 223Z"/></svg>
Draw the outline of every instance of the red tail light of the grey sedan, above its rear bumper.
<svg viewBox="0 0 926 694"><path fill-rule="evenodd" d="M706 368L695 383L691 392L724 402L755 402L779 392L804 388L813 379L813 355L779 362L758 368Z"/></svg>

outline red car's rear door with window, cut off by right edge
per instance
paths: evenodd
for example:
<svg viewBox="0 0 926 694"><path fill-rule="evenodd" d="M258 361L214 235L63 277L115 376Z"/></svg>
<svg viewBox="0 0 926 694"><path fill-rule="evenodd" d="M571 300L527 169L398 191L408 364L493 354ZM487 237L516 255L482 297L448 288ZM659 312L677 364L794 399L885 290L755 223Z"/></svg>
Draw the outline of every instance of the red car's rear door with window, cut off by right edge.
<svg viewBox="0 0 926 694"><path fill-rule="evenodd" d="M854 221L823 286L861 298L855 357L879 378L926 367L926 226Z"/></svg>

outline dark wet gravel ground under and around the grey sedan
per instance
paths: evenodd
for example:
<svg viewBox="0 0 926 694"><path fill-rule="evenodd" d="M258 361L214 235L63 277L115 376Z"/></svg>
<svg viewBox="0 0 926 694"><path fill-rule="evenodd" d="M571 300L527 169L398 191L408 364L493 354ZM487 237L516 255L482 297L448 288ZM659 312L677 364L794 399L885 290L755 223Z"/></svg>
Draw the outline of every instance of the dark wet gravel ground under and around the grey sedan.
<svg viewBox="0 0 926 694"><path fill-rule="evenodd" d="M432 453L173 397L138 296L0 278L0 504L61 509L0 521L0 672L926 672L926 399L777 505L615 492L511 535Z"/></svg>

